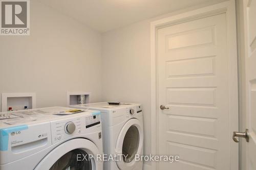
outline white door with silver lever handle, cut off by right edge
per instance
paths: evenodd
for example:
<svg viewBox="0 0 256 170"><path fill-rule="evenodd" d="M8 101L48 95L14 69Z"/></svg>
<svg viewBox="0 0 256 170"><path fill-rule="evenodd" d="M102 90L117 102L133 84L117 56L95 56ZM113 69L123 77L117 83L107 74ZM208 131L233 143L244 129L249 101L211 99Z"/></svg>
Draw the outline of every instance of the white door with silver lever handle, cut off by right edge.
<svg viewBox="0 0 256 170"><path fill-rule="evenodd" d="M244 132L245 129L248 129L249 132L249 141L245 139L240 139L242 142L241 152L242 152L242 160L241 160L241 169L255 169L256 167L256 133L255 133L255 11L256 11L256 3L253 0L243 0L239 1L238 7L240 7L241 13L238 13L240 16L240 36L241 36L241 43L240 49L241 56L240 58L244 59L241 63L244 66L243 75L244 80L244 88L242 88L242 95L244 98L241 99L242 101L242 128L240 132Z"/></svg>

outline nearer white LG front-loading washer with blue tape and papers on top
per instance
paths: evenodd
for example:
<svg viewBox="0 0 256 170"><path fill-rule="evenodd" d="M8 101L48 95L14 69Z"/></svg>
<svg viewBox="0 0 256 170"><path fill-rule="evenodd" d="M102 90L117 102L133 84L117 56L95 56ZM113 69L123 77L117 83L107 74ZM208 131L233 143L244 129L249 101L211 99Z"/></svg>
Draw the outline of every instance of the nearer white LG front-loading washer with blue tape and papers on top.
<svg viewBox="0 0 256 170"><path fill-rule="evenodd" d="M69 109L2 112L22 117L0 120L0 169L102 170L100 112L55 115Z"/></svg>

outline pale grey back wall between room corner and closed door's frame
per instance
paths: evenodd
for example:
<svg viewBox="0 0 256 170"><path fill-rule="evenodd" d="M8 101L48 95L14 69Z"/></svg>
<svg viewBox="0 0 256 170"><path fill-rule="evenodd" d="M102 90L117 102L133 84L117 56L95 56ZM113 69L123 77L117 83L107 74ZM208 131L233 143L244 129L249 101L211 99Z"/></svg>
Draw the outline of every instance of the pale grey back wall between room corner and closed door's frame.
<svg viewBox="0 0 256 170"><path fill-rule="evenodd" d="M150 23L219 2L223 1L212 1L208 4L136 22L130 26L106 32L102 36L103 101L143 104L145 155L151 153Z"/></svg>

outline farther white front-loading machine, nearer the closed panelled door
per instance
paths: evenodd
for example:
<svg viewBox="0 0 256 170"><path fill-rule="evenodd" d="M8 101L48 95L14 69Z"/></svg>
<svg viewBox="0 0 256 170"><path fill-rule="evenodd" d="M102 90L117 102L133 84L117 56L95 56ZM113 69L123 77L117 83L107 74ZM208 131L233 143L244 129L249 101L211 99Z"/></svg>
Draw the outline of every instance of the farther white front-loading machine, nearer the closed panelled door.
<svg viewBox="0 0 256 170"><path fill-rule="evenodd" d="M141 170L143 155L143 115L140 104L109 105L106 102L70 106L101 111L104 154L116 155L116 160L104 161L105 170ZM125 155L119 159L118 155Z"/></svg>

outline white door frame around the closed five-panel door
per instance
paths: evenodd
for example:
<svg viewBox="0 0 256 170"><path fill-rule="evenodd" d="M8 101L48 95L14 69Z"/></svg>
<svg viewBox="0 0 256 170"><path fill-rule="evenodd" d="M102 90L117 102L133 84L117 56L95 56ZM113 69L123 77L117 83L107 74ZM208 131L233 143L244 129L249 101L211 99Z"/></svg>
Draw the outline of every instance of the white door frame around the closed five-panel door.
<svg viewBox="0 0 256 170"><path fill-rule="evenodd" d="M151 22L151 153L158 155L158 62L157 62L157 31L160 28L176 25L178 23L192 21L199 18L226 13L227 20L227 55L228 55L228 79L229 82L229 131L230 139L232 132L239 129L238 108L238 60L237 60L237 32L236 32L236 3L235 0L207 6L197 10L170 16ZM235 73L235 74L234 74ZM231 113L231 114L230 114ZM230 140L231 141L231 140ZM239 169L239 146L238 143L230 142L231 161L230 169ZM159 169L158 162L152 162L152 168Z"/></svg>

